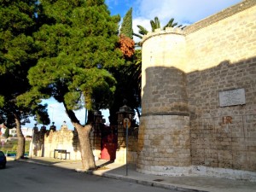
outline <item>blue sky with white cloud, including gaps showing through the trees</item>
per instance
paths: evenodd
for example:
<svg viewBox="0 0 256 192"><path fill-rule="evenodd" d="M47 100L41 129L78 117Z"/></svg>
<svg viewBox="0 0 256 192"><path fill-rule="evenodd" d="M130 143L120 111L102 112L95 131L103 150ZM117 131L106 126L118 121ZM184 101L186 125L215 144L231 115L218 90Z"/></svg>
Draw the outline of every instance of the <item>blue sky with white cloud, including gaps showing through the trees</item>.
<svg viewBox="0 0 256 192"><path fill-rule="evenodd" d="M137 25L150 30L149 20L153 20L155 16L160 19L161 26L166 25L171 18L174 18L178 24L190 25L241 2L241 0L105 0L111 15L119 14L123 18L126 12L132 8L134 32L137 32ZM64 120L67 122L68 128L73 129L62 103L55 102L54 99L44 102L48 103L49 118L51 121L55 121L58 130ZM76 115L80 123L84 124L85 109L77 111ZM108 122L108 110L102 111L102 115ZM24 126L33 127L34 124L35 122L31 119L31 123ZM38 127L41 126L38 125Z"/></svg>

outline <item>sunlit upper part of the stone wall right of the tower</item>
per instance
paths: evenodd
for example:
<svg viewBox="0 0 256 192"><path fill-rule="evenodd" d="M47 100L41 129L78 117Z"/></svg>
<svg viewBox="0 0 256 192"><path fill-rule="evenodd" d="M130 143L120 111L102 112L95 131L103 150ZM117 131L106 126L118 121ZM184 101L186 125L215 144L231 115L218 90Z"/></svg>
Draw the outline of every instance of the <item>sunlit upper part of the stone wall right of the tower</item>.
<svg viewBox="0 0 256 192"><path fill-rule="evenodd" d="M255 56L256 2L243 1L185 28L186 73Z"/></svg>

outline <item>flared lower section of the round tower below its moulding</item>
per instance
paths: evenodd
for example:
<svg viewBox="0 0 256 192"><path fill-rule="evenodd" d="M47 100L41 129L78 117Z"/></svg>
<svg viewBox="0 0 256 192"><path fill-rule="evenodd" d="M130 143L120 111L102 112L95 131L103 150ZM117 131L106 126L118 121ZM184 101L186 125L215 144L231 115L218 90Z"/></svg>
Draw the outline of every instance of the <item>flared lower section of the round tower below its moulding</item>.
<svg viewBox="0 0 256 192"><path fill-rule="evenodd" d="M189 116L150 115L140 119L137 172L188 175Z"/></svg>

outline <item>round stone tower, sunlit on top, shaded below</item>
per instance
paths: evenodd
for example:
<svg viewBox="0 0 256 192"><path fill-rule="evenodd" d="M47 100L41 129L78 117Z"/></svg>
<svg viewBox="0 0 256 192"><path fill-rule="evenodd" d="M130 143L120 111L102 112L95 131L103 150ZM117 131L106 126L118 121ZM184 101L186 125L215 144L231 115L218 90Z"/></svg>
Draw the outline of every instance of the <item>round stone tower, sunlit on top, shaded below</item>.
<svg viewBox="0 0 256 192"><path fill-rule="evenodd" d="M154 46L153 46L154 44ZM143 38L143 102L137 171L180 175L191 166L185 37L180 29Z"/></svg>

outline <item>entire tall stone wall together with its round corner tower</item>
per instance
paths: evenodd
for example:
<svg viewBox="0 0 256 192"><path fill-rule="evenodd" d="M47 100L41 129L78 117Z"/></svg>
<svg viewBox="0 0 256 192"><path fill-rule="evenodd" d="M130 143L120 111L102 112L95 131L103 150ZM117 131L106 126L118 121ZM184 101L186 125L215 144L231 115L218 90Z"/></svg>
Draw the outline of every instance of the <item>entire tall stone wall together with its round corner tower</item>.
<svg viewBox="0 0 256 192"><path fill-rule="evenodd" d="M143 37L138 172L256 181L255 13L246 0ZM245 103L220 105L220 92L239 89Z"/></svg>

